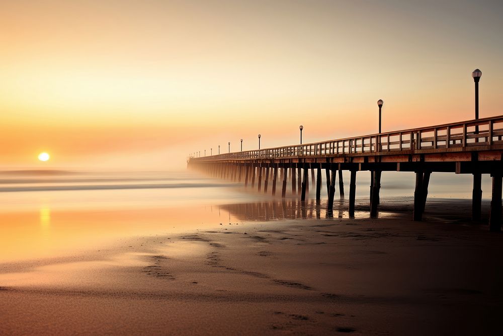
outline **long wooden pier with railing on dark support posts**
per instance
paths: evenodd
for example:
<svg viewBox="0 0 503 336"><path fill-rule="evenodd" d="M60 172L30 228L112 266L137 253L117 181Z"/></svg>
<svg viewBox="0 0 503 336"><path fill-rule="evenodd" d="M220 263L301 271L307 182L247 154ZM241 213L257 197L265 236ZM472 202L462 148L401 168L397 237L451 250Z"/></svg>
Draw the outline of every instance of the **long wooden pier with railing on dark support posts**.
<svg viewBox="0 0 503 336"><path fill-rule="evenodd" d="M430 176L435 172L473 175L472 219L480 221L481 175L490 174L489 230L501 231L503 115L311 144L190 157L187 166L213 177L243 183L258 192L276 195L279 187L281 197L286 197L290 181L292 194L299 195L301 201L306 200L311 184L316 188L317 202L321 199L324 171L327 211L333 207L337 178L339 195L345 197L342 171L348 170L350 217L355 215L357 172L371 172L371 217L378 216L381 173L414 172L415 221L423 218Z"/></svg>

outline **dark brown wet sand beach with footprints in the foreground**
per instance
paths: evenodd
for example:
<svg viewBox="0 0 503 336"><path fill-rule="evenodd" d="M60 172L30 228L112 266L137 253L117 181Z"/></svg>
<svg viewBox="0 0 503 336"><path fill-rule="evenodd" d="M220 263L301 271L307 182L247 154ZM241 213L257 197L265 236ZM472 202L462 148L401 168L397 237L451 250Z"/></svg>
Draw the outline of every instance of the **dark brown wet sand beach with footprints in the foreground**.
<svg viewBox="0 0 503 336"><path fill-rule="evenodd" d="M0 334L503 333L500 234L381 216L215 223L4 264Z"/></svg>

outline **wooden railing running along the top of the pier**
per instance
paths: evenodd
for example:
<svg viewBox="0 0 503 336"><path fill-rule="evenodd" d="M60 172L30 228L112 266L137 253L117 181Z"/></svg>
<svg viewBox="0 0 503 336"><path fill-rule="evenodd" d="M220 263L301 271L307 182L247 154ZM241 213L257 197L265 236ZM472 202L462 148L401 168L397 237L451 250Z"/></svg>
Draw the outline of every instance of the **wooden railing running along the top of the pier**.
<svg viewBox="0 0 503 336"><path fill-rule="evenodd" d="M437 150L503 144L503 115L430 127L383 132L356 138L329 140L244 152L226 153L191 160L268 159L347 154Z"/></svg>

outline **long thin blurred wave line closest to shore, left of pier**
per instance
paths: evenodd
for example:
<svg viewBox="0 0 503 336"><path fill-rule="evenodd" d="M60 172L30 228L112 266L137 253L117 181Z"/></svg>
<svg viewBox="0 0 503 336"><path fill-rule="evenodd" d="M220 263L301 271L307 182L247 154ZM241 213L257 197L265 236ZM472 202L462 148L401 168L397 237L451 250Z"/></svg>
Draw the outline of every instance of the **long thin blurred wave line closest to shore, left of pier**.
<svg viewBox="0 0 503 336"><path fill-rule="evenodd" d="M229 186L229 183L172 183L172 184L106 184L106 185L49 185L0 187L0 192L18 191L67 191L67 190L114 190L114 189L171 189L208 188Z"/></svg>

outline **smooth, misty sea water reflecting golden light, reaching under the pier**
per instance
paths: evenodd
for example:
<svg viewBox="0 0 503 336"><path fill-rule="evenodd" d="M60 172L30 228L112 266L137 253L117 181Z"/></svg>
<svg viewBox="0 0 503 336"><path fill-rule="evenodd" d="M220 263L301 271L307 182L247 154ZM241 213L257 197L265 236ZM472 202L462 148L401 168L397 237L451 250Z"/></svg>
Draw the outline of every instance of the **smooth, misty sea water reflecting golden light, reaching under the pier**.
<svg viewBox="0 0 503 336"><path fill-rule="evenodd" d="M347 217L349 174L344 179L346 201L336 199L334 217ZM368 172L358 173L357 217L368 217L369 181ZM387 201L410 204L414 182L412 173L383 173L384 209ZM490 178L484 176L482 182L483 196L488 198ZM322 187L323 201L317 206L312 186L302 205L296 195L282 201L190 171L4 171L0 172L0 262L70 255L121 239L210 229L220 223L325 218L325 181ZM470 198L471 176L433 174L429 196Z"/></svg>

